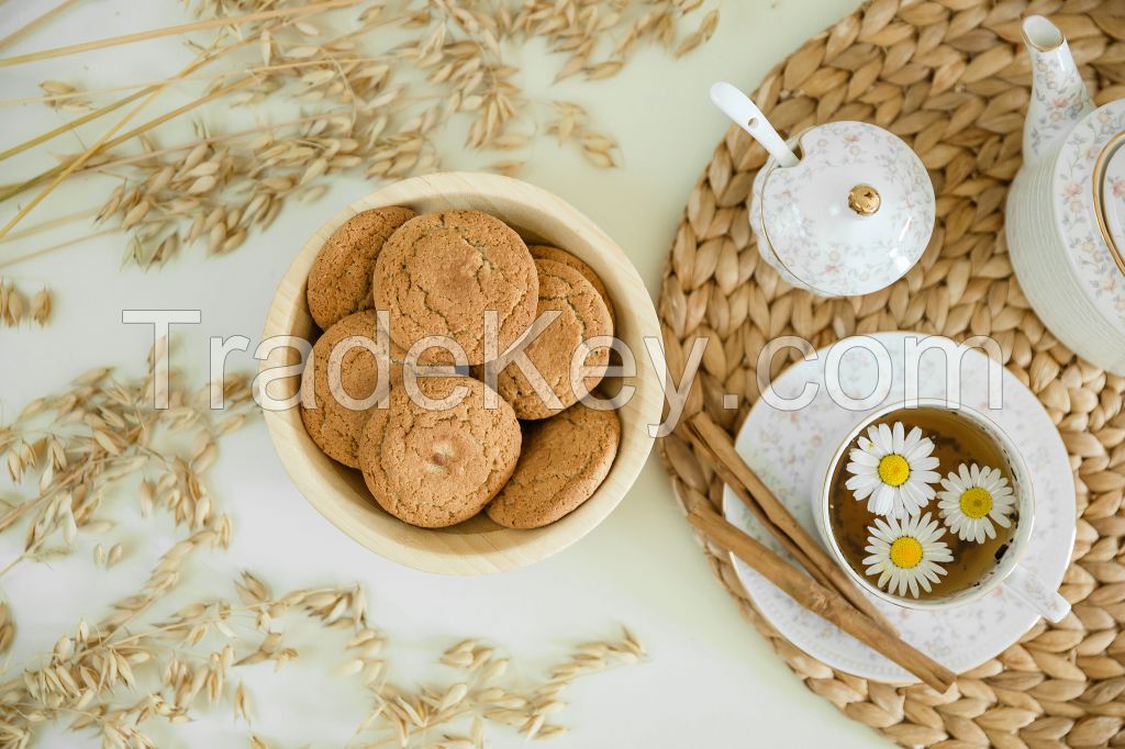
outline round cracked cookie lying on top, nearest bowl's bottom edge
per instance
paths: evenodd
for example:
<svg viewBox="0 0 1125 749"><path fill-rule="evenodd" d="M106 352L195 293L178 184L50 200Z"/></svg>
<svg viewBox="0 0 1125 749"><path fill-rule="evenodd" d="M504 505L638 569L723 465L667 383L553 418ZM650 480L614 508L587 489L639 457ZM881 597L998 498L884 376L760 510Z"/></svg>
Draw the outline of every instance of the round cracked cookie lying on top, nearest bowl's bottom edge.
<svg viewBox="0 0 1125 749"><path fill-rule="evenodd" d="M360 468L376 502L421 527L444 527L484 508L512 476L520 458L520 423L503 400L484 407L485 385L468 377L417 380L429 398L458 386L468 395L456 406L428 410L405 387L390 391L363 428Z"/></svg>

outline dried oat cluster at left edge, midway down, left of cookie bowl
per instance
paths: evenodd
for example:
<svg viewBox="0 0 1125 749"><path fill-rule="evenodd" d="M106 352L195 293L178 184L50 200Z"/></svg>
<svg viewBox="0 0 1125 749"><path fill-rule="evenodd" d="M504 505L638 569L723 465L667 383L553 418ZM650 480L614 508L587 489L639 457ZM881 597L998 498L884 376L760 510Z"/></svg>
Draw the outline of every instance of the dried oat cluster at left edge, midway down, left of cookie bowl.
<svg viewBox="0 0 1125 749"><path fill-rule="evenodd" d="M0 532L26 529L22 553L0 575L21 560L69 554L81 531L111 529L99 511L109 490L127 479L140 479L142 514L163 507L189 529L210 523L214 507L202 476L219 437L253 413L249 378L227 377L227 408L213 410L209 387L188 391L173 372L170 407L158 409L152 362L150 355L148 371L137 379L117 379L109 368L90 370L69 390L33 400L0 426L0 461L25 489L0 497ZM120 554L114 545L106 561Z"/></svg>

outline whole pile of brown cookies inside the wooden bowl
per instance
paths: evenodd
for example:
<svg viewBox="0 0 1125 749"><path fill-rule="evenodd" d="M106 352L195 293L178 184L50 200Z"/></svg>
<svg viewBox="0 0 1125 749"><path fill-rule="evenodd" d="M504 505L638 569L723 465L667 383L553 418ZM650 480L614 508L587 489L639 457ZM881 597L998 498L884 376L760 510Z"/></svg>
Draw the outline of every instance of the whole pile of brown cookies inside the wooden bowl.
<svg viewBox="0 0 1125 749"><path fill-rule="evenodd" d="M305 428L395 517L540 527L609 473L618 415L580 400L609 363L613 305L565 250L482 211L377 208L328 237L307 300L323 333Z"/></svg>

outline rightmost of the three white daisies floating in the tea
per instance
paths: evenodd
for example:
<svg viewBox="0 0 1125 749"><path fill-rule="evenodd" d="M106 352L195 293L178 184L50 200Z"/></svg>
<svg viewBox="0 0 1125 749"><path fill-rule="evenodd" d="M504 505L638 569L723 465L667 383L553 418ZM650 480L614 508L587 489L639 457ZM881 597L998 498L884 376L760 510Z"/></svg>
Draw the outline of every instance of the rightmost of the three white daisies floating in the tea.
<svg viewBox="0 0 1125 749"><path fill-rule="evenodd" d="M996 526L1011 525L1008 515L1016 506L1016 496L999 468L971 467L961 463L956 473L942 479L937 508L946 527L962 541L983 543L984 536L996 538Z"/></svg>

